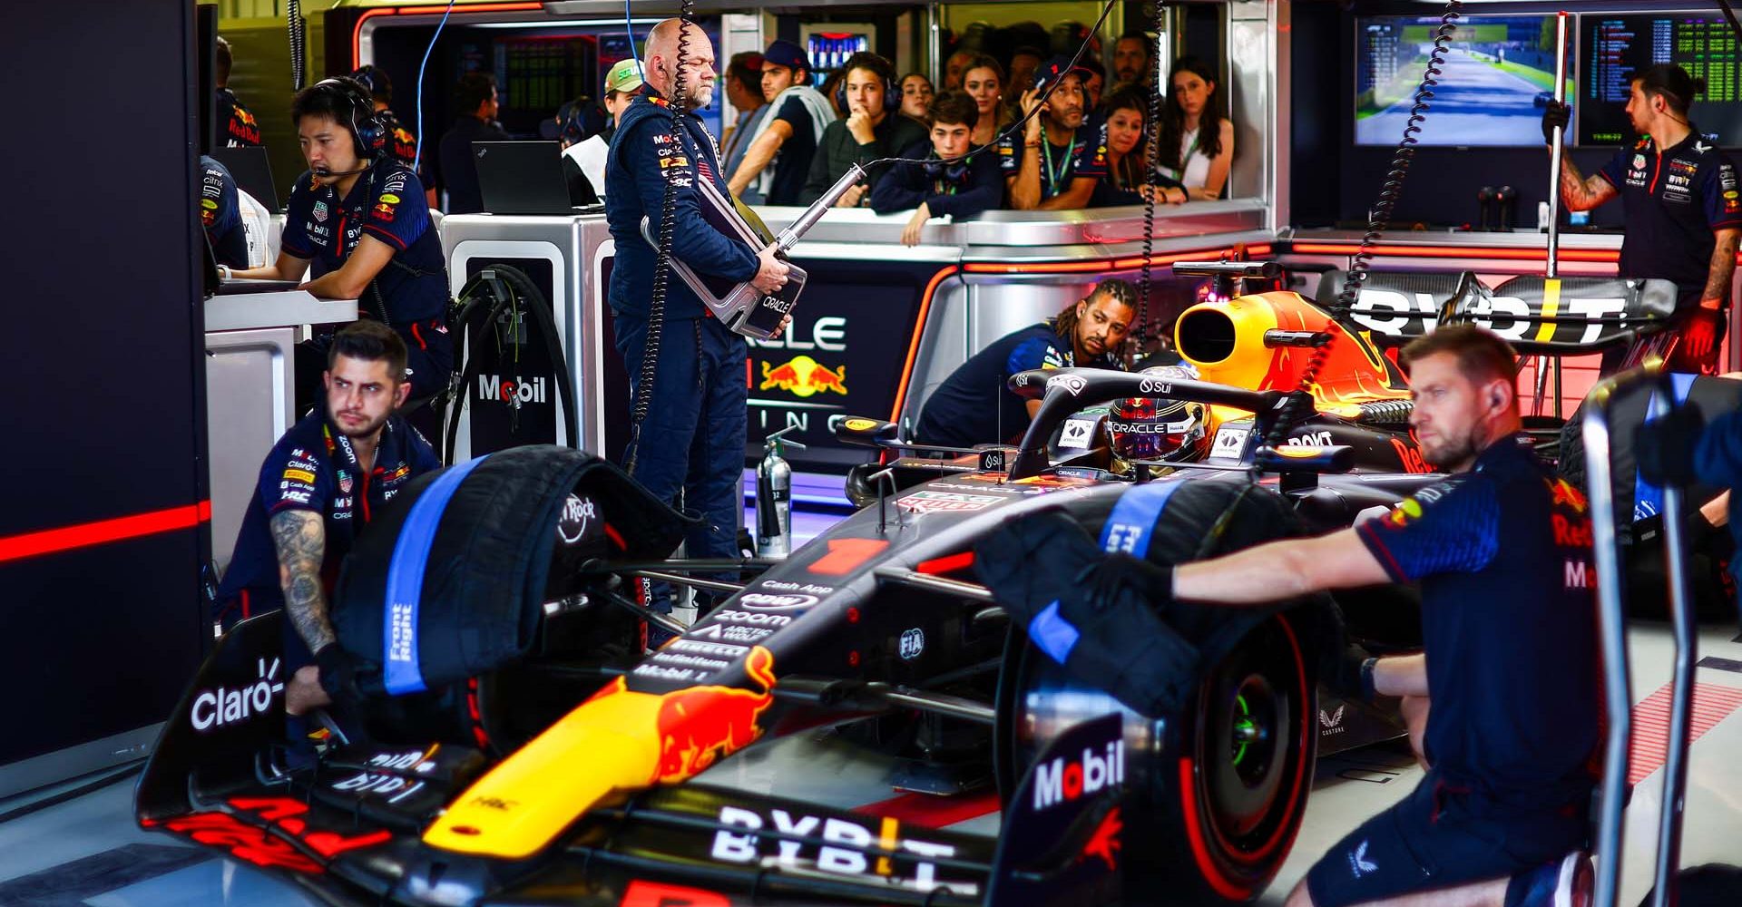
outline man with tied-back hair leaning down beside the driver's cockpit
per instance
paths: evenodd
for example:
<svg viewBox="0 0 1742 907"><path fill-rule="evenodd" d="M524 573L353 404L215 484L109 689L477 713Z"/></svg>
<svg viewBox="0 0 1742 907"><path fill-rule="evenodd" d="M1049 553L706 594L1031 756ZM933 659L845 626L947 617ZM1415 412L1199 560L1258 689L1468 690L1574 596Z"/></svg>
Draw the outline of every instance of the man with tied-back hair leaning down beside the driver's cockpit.
<svg viewBox="0 0 1742 907"><path fill-rule="evenodd" d="M1021 439L1040 400L1012 393L1010 376L1028 369L1120 367L1118 350L1136 317L1136 299L1138 287L1129 282L1101 280L1056 319L998 338L932 392L915 437L949 447Z"/></svg>

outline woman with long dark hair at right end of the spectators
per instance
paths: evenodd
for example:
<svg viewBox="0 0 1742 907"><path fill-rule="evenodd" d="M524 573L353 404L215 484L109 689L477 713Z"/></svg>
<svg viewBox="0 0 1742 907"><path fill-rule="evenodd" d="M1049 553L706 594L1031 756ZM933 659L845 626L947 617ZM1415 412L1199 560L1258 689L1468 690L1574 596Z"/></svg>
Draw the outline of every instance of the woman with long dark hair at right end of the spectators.
<svg viewBox="0 0 1742 907"><path fill-rule="evenodd" d="M1179 57L1167 77L1162 104L1162 172L1195 200L1221 198L1233 162L1233 124L1221 115L1216 70L1198 57Z"/></svg>

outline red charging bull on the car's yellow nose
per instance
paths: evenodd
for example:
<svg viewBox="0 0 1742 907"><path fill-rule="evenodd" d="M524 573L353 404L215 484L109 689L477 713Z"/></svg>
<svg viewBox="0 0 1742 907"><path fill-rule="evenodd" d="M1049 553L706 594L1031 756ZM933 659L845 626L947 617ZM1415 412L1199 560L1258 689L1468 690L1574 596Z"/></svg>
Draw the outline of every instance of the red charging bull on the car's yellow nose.
<svg viewBox="0 0 1742 907"><path fill-rule="evenodd" d="M761 693L732 686L695 686L660 696L660 757L652 783L700 775L761 736L756 719L773 705L773 653L753 648L744 670L761 684Z"/></svg>

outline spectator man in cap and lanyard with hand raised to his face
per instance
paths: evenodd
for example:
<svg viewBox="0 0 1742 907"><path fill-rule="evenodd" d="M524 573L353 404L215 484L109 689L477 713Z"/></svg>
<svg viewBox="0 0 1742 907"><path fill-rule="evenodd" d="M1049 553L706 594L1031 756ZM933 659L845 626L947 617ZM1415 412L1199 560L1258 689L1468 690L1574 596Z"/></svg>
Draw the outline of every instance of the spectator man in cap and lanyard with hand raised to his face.
<svg viewBox="0 0 1742 907"><path fill-rule="evenodd" d="M1035 104L1023 129L1021 153L1016 136L998 139L998 160L1017 211L1077 211L1089 205L1096 183L1106 174L1106 148L1099 127L1084 122L1084 80L1092 73L1071 68L1070 57L1052 57L1035 73L1035 87L1023 92L1023 113ZM1040 96L1057 85L1047 101Z"/></svg>

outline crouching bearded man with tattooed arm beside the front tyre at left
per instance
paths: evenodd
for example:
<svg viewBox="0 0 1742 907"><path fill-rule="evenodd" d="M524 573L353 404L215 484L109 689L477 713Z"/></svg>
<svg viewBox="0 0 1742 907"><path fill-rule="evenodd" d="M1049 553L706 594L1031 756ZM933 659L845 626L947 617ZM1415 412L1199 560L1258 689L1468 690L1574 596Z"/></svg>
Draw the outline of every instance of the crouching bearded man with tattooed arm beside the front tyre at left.
<svg viewBox="0 0 1742 907"><path fill-rule="evenodd" d="M411 393L404 374L406 345L385 326L355 322L333 336L324 402L267 454L218 588L225 627L286 609L284 702L293 716L355 698L350 656L327 616L340 562L406 482L441 468L395 413Z"/></svg>

